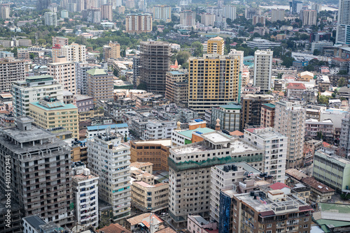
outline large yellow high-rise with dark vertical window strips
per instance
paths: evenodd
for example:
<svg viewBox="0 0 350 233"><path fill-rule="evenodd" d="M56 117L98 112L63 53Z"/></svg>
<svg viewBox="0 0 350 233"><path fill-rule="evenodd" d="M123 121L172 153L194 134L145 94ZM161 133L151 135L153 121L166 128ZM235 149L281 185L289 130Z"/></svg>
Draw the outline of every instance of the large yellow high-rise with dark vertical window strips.
<svg viewBox="0 0 350 233"><path fill-rule="evenodd" d="M188 72L188 107L204 114L216 105L237 101L243 52L191 57Z"/></svg>

